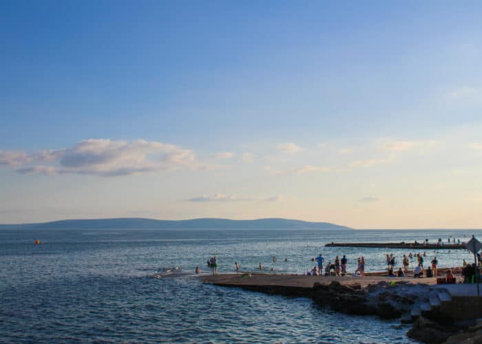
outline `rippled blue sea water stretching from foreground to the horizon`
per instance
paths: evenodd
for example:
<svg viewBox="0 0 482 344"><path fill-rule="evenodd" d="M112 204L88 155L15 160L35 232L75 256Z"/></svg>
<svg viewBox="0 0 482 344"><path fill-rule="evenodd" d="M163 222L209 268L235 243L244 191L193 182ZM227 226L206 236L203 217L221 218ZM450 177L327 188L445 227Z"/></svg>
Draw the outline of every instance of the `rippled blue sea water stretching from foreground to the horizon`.
<svg viewBox="0 0 482 344"><path fill-rule="evenodd" d="M243 270L261 262L267 272L302 274L319 252L326 259L345 254L349 271L360 255L368 271L381 270L384 249L323 246L472 234L482 238L470 230L0 230L0 342L409 343L398 321L210 286L193 271L208 272L206 261L216 254L219 272L233 272L238 261ZM35 246L35 239L45 244ZM437 255L440 266L473 259L462 250L426 254ZM147 277L174 266L180 275Z"/></svg>

